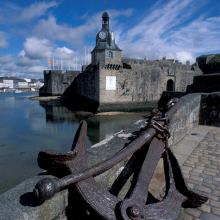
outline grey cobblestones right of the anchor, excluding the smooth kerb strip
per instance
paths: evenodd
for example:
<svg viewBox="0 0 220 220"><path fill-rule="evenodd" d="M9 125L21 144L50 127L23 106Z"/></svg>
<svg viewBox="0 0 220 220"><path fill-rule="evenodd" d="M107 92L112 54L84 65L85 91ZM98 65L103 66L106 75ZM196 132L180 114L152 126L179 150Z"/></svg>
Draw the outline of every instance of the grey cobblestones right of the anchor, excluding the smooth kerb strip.
<svg viewBox="0 0 220 220"><path fill-rule="evenodd" d="M197 209L182 209L178 220L220 220L220 129L212 128L182 167L188 186L209 200Z"/></svg>

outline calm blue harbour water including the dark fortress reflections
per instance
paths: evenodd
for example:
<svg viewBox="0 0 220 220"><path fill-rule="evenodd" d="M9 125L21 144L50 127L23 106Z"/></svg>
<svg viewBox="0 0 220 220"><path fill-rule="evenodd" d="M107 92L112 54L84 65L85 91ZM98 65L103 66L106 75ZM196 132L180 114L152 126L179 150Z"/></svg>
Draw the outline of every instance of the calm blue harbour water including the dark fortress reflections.
<svg viewBox="0 0 220 220"><path fill-rule="evenodd" d="M68 151L80 120L88 123L89 147L142 117L71 112L54 101L39 104L33 95L0 94L0 193L40 172L39 151Z"/></svg>

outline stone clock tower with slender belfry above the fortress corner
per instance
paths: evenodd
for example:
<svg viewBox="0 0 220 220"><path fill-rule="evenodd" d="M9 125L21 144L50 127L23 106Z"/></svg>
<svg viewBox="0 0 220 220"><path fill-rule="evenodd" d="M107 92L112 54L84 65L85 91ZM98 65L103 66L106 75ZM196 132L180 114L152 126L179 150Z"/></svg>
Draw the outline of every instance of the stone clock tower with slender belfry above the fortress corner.
<svg viewBox="0 0 220 220"><path fill-rule="evenodd" d="M101 67L121 65L121 49L115 43L114 33L109 29L109 15L102 14L102 29L96 35L96 46L92 53L92 64Z"/></svg>

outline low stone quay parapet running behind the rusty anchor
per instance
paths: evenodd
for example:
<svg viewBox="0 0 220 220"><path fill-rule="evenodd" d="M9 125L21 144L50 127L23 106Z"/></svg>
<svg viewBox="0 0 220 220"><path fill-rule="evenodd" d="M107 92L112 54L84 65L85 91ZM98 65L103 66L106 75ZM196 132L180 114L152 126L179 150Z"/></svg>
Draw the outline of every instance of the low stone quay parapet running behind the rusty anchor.
<svg viewBox="0 0 220 220"><path fill-rule="evenodd" d="M199 121L199 106L200 94L189 94L182 97L179 101L178 110L172 112L173 119L170 122L171 147L175 147L175 143L180 141L183 136L190 132L191 128ZM114 155L117 151L122 149L128 142L128 137L132 132L139 130L146 125L145 120L140 120L131 125L125 131L120 131L108 139L93 145L87 150L89 166L103 161L106 158ZM117 171L124 166L124 162L115 166L108 173L100 175L96 178L105 185L112 183L117 175ZM46 176L37 176L28 179L15 188L5 192L0 196L0 213L5 219L11 220L34 220L34 219L66 219L66 207L68 206L68 191L64 190L57 193L52 199L37 206L31 200L31 193L33 186L39 179ZM153 186L157 187L156 185Z"/></svg>

